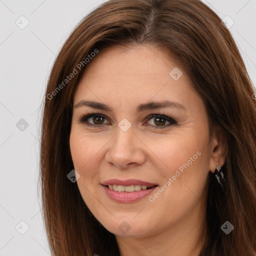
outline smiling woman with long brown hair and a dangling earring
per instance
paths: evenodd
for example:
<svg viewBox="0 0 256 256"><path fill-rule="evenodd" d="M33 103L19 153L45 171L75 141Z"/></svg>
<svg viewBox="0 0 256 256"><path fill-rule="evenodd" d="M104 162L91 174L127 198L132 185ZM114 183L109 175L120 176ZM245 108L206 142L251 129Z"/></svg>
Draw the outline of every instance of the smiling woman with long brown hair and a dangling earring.
<svg viewBox="0 0 256 256"><path fill-rule="evenodd" d="M254 93L199 0L110 0L87 15L45 93L52 255L256 255Z"/></svg>

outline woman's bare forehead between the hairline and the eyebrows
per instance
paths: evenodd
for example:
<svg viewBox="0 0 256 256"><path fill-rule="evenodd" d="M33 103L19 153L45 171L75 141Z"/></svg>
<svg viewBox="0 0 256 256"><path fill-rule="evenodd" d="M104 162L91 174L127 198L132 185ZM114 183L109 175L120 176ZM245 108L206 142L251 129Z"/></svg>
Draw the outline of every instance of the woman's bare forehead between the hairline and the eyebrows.
<svg viewBox="0 0 256 256"><path fill-rule="evenodd" d="M149 100L186 101L195 94L182 67L163 49L114 46L99 51L90 60L77 85L74 104L81 99L111 105Z"/></svg>

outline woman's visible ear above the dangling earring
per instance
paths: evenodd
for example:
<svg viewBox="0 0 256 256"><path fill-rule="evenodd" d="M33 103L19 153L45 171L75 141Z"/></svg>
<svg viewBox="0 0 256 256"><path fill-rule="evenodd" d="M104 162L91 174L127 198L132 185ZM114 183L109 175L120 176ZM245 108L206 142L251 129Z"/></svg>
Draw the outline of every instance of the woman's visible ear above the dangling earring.
<svg viewBox="0 0 256 256"><path fill-rule="evenodd" d="M215 126L212 132L210 146L209 170L214 173L216 164L223 166L227 154L227 140L220 126Z"/></svg>

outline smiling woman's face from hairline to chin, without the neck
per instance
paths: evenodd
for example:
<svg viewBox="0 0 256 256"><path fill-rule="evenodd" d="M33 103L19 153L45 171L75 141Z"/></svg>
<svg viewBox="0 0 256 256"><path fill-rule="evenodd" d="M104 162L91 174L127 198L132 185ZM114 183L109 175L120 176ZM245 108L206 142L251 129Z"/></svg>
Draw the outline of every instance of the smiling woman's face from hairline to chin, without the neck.
<svg viewBox="0 0 256 256"><path fill-rule="evenodd" d="M106 229L142 237L201 218L215 164L208 119L174 58L152 46L101 50L73 103L77 185Z"/></svg>

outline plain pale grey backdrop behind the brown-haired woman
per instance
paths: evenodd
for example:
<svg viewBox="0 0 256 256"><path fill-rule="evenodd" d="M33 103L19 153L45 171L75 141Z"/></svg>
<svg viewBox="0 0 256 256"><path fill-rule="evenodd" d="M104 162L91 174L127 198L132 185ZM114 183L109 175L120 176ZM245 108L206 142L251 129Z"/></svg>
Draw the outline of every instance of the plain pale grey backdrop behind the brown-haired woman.
<svg viewBox="0 0 256 256"><path fill-rule="evenodd" d="M102 2L0 0L0 256L49 255L37 192L40 105L56 53ZM203 2L234 21L229 29L255 84L256 0Z"/></svg>

